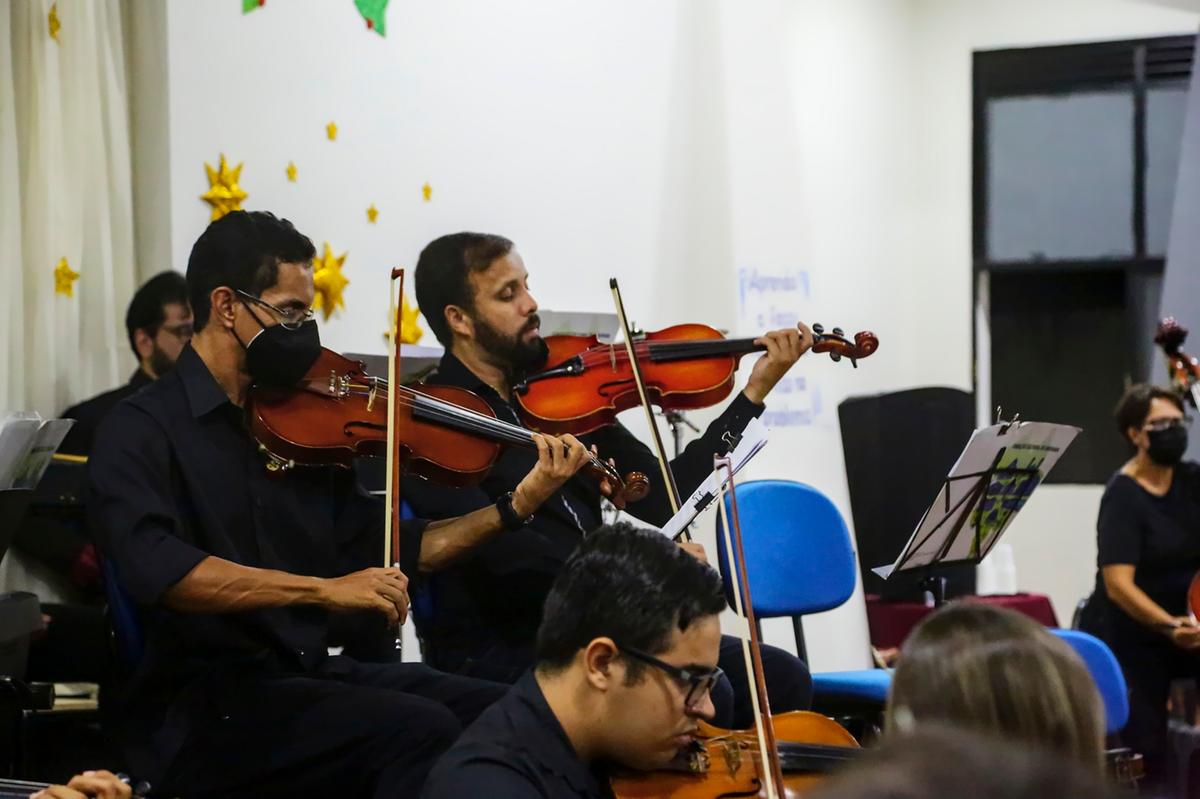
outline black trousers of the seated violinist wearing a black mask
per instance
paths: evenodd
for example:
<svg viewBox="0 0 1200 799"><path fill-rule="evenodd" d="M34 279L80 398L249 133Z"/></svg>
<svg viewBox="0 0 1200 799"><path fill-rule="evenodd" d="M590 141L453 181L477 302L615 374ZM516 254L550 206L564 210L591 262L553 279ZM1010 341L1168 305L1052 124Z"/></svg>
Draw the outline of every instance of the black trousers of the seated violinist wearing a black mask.
<svg viewBox="0 0 1200 799"><path fill-rule="evenodd" d="M418 797L434 761L506 690L422 663L348 657L314 674L239 680L193 719L155 794Z"/></svg>

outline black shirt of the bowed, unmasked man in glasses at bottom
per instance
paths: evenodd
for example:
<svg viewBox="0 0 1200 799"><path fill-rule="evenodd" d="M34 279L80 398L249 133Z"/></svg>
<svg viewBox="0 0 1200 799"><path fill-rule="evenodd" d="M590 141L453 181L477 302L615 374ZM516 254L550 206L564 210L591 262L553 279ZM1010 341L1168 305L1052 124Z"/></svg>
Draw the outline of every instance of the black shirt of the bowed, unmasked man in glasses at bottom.
<svg viewBox="0 0 1200 799"><path fill-rule="evenodd" d="M589 769L546 704L533 672L475 720L433 767L424 799L605 799L607 780Z"/></svg>

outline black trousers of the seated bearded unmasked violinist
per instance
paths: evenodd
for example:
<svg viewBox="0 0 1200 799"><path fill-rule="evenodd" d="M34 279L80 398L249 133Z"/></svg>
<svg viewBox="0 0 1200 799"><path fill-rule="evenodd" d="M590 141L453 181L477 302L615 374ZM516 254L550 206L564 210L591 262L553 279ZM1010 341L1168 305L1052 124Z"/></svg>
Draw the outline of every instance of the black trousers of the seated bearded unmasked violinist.
<svg viewBox="0 0 1200 799"><path fill-rule="evenodd" d="M482 651L467 653L443 647L426 647L425 659L436 668L500 683L515 683L536 660L533 644L493 643ZM726 729L754 725L754 705L746 681L742 641L721 636L718 663L725 678L713 686L713 723ZM762 671L772 713L808 710L812 707L812 677L804 661L778 647L762 645Z"/></svg>

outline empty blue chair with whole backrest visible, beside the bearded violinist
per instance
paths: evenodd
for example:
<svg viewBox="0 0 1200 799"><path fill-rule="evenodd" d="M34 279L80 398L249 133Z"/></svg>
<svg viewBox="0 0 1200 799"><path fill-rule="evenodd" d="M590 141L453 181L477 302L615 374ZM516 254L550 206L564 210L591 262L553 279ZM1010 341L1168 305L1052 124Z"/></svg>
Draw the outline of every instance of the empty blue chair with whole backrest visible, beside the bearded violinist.
<svg viewBox="0 0 1200 799"><path fill-rule="evenodd" d="M737 500L755 615L791 617L797 651L808 660L800 617L833 609L854 591L857 565L846 522L828 497L790 480L744 482ZM720 517L716 542L728 585ZM882 710L890 685L892 672L882 668L812 674L814 707Z"/></svg>

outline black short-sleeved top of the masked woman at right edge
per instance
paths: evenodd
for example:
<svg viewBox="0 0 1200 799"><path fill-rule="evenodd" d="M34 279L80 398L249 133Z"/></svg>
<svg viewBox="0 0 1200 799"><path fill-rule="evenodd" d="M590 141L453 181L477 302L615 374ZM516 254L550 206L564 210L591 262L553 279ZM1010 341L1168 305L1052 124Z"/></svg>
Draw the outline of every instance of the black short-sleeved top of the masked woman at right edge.
<svg viewBox="0 0 1200 799"><path fill-rule="evenodd" d="M1135 566L1134 583L1147 596L1171 615L1187 615L1188 585L1200 570L1200 463L1180 463L1162 497L1116 474L1104 489L1096 527L1099 567ZM1108 599L1099 572L1096 585L1111 636L1163 639Z"/></svg>

